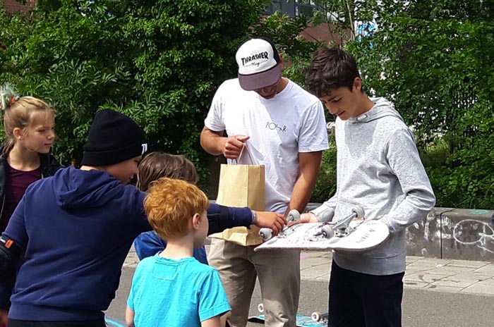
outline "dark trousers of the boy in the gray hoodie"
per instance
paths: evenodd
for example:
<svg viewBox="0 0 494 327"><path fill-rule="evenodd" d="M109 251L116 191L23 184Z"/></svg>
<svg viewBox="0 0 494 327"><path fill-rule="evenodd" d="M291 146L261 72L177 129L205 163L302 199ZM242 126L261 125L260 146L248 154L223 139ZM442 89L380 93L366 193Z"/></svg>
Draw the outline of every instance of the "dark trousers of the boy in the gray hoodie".
<svg viewBox="0 0 494 327"><path fill-rule="evenodd" d="M328 326L401 327L403 276L356 273L332 261Z"/></svg>

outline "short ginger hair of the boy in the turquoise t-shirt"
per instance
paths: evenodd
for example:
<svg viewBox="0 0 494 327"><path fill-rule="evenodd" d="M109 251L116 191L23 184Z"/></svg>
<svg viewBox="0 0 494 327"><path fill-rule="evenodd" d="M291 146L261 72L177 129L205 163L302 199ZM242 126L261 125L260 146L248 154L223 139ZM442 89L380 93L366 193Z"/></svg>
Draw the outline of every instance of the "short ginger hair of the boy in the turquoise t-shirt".
<svg viewBox="0 0 494 327"><path fill-rule="evenodd" d="M202 216L208 206L206 195L197 186L171 178L152 183L144 201L152 229L165 240L187 235L191 218Z"/></svg>

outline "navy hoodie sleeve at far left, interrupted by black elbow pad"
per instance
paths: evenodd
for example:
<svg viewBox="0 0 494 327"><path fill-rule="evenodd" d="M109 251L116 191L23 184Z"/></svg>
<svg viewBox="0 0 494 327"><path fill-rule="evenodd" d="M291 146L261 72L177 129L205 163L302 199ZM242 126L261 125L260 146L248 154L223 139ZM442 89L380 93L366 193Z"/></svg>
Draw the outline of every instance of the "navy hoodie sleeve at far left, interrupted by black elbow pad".
<svg viewBox="0 0 494 327"><path fill-rule="evenodd" d="M23 197L13 211L11 219L8 221L7 228L3 235L13 240L14 246L20 249L20 253L25 253L25 248L28 245L28 233L25 230L24 220L24 199ZM18 266L18 260L11 263L13 266ZM10 307L10 297L12 295L13 285L16 283L16 269L12 267L12 276L3 278L0 281L0 308Z"/></svg>

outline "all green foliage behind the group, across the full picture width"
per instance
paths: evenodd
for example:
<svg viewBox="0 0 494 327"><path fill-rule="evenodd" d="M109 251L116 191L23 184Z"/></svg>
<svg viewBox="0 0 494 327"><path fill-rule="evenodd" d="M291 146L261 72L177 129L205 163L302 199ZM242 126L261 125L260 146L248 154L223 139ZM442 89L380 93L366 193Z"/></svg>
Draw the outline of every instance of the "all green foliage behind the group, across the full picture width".
<svg viewBox="0 0 494 327"><path fill-rule="evenodd" d="M325 24L349 40L366 92L390 98L414 128L438 206L494 206L494 1L322 0L311 17L260 20L265 3L40 0L0 14L0 82L52 101L67 160L80 159L95 111L116 108L151 149L186 154L205 175L198 135L215 88L236 75L236 47L270 37L303 85L320 44L300 32ZM366 22L377 30L359 35ZM334 147L324 161L313 201L335 190Z"/></svg>

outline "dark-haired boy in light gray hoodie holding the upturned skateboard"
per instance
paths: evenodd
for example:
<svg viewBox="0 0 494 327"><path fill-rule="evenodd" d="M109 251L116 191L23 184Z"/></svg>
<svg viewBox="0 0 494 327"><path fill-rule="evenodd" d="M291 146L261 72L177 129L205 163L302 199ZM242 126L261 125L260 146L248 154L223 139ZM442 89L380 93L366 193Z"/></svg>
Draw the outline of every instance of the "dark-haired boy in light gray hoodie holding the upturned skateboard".
<svg viewBox="0 0 494 327"><path fill-rule="evenodd" d="M389 101L363 92L356 62L342 49L318 49L307 84L337 116L337 190L302 221L338 221L359 205L366 219L390 228L373 250L333 253L329 326L402 326L405 228L435 204L414 135Z"/></svg>

